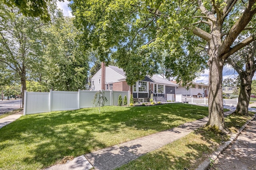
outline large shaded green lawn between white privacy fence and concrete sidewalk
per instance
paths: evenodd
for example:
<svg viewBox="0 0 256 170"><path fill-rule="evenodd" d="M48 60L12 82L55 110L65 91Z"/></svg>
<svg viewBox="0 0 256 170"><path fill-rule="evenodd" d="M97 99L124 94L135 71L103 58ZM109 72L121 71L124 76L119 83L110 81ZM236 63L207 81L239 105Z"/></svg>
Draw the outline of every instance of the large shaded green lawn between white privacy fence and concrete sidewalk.
<svg viewBox="0 0 256 170"><path fill-rule="evenodd" d="M0 169L45 168L207 115L208 107L175 103L22 116L0 129Z"/></svg>

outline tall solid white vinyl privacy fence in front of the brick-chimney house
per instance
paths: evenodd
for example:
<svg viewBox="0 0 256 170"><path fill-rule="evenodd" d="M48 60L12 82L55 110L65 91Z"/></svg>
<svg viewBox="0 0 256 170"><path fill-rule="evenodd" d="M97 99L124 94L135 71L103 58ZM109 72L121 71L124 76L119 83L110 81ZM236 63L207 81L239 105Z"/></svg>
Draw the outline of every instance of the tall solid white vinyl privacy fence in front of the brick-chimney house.
<svg viewBox="0 0 256 170"><path fill-rule="evenodd" d="M23 114L35 114L51 111L75 110L87 107L95 107L92 103L97 91L78 90L78 92L52 91L50 92L27 92L24 91L24 109ZM118 105L118 97L121 94L122 101L127 96L127 102L130 101L130 91L104 91L107 98L105 106Z"/></svg>

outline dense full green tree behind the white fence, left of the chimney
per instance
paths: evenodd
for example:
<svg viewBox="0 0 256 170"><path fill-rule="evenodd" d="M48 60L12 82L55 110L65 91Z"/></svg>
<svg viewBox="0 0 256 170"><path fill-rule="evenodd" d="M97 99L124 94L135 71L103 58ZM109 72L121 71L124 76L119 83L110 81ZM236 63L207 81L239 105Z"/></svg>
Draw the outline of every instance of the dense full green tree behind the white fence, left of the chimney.
<svg viewBox="0 0 256 170"><path fill-rule="evenodd" d="M57 11L52 24L47 27L43 80L53 90L77 91L86 89L89 70L88 55L76 40L78 30L73 18L64 17Z"/></svg>

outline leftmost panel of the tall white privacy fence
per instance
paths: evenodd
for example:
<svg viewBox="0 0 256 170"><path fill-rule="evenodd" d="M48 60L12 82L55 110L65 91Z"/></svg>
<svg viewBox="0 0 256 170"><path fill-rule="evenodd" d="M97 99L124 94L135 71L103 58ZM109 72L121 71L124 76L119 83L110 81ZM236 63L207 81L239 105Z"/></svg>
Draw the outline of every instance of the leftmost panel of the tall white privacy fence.
<svg viewBox="0 0 256 170"><path fill-rule="evenodd" d="M26 92L26 107L24 106L25 113L29 115L35 113L49 112L49 96L49 92Z"/></svg>

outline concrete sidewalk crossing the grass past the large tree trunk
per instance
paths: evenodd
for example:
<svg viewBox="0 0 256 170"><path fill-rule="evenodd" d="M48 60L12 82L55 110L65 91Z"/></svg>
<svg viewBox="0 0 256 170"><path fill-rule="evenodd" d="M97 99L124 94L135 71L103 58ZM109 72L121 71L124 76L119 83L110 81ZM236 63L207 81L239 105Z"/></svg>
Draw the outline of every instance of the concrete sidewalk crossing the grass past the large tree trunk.
<svg viewBox="0 0 256 170"><path fill-rule="evenodd" d="M233 111L234 110L227 111L224 115L227 116ZM90 170L93 167L96 170L113 170L148 152L159 149L168 143L172 143L173 141L188 135L190 132L205 125L207 121L208 117L205 117L204 119L184 123L179 127L167 131L162 131L79 156L67 164L55 165L47 168L47 170Z"/></svg>

